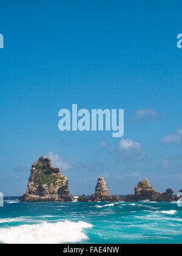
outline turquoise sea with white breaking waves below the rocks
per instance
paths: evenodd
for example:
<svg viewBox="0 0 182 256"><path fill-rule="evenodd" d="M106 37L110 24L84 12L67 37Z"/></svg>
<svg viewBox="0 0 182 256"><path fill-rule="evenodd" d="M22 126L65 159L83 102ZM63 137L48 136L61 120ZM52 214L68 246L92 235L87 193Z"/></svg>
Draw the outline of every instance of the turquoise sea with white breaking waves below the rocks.
<svg viewBox="0 0 182 256"><path fill-rule="evenodd" d="M0 208L1 243L182 243L174 203L21 203Z"/></svg>

